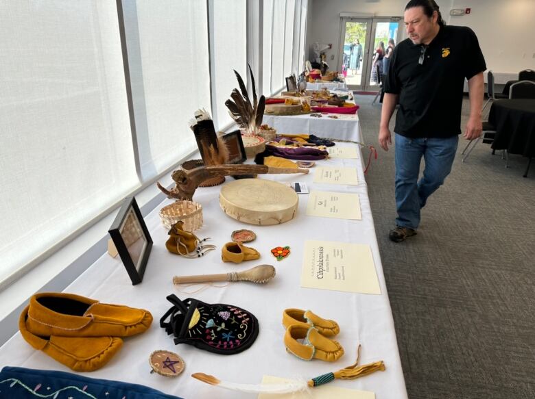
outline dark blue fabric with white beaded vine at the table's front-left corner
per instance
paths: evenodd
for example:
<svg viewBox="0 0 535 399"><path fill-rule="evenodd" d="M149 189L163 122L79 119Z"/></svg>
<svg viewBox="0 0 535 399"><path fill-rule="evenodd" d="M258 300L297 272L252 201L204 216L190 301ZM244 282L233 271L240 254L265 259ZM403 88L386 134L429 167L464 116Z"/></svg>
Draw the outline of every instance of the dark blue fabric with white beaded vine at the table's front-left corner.
<svg viewBox="0 0 535 399"><path fill-rule="evenodd" d="M1 399L180 399L144 385L89 378L67 372L6 366L0 372Z"/></svg>

